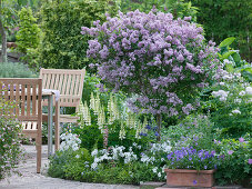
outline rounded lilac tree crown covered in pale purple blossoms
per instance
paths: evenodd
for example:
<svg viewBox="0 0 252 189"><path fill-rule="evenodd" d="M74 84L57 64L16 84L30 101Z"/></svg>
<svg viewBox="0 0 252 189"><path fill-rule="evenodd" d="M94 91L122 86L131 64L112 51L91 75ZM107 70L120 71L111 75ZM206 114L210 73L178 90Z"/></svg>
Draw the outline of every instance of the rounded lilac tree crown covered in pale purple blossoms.
<svg viewBox="0 0 252 189"><path fill-rule="evenodd" d="M188 18L137 10L93 24L81 28L93 37L87 54L97 63L90 67L114 91L139 94L129 102L135 112L188 115L194 109L188 96L204 87L218 68L214 43L206 44L202 28Z"/></svg>

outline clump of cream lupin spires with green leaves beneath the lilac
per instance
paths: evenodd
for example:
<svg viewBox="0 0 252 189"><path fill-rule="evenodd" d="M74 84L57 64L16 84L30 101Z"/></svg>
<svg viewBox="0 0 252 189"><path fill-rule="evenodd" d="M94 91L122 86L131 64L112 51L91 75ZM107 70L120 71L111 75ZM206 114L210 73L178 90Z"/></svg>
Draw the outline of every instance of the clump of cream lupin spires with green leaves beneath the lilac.
<svg viewBox="0 0 252 189"><path fill-rule="evenodd" d="M153 119L151 116L132 113L127 107L124 93L113 93L104 87L101 92L100 84L94 76L85 77L87 90L78 109L79 126L65 128L64 131L80 136L80 146L89 150L94 146L98 149L121 145L128 148L133 142L144 145L150 138L155 138L155 127L145 128L148 121Z"/></svg>

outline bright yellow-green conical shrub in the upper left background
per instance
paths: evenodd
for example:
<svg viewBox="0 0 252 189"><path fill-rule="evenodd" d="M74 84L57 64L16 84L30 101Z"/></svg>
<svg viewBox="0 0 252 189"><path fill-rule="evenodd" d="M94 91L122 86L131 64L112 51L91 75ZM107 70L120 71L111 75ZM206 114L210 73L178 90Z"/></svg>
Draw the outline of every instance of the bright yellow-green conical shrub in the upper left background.
<svg viewBox="0 0 252 189"><path fill-rule="evenodd" d="M17 33L17 44L20 52L26 53L28 49L36 49L40 42L40 29L32 16L31 8L22 8L19 12L19 31Z"/></svg>

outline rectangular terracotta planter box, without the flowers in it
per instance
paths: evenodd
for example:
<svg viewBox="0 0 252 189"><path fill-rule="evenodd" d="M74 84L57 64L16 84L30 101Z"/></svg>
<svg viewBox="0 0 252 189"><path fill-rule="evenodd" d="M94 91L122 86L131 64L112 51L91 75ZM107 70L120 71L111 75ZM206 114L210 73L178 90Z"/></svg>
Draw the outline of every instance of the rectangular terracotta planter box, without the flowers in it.
<svg viewBox="0 0 252 189"><path fill-rule="evenodd" d="M167 183L179 187L212 187L215 170L164 169Z"/></svg>

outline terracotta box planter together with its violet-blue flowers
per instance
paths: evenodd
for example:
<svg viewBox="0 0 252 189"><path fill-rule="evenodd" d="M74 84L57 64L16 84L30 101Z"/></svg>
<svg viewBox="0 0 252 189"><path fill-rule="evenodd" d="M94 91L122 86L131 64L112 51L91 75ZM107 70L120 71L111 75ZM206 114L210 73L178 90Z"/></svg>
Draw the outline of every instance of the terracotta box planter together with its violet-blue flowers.
<svg viewBox="0 0 252 189"><path fill-rule="evenodd" d="M167 183L169 186L212 187L213 173L223 156L215 151L182 147L168 155Z"/></svg>

